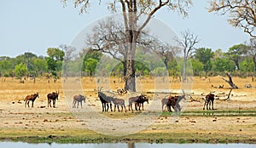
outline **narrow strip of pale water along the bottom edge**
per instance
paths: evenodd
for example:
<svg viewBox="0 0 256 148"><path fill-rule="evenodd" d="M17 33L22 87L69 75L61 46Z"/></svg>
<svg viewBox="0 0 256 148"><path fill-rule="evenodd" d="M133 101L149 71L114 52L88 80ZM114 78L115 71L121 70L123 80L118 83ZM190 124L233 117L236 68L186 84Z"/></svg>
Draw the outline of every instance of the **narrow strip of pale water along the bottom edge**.
<svg viewBox="0 0 256 148"><path fill-rule="evenodd" d="M0 147L19 147L19 148L140 148L140 147L147 147L147 148L155 148L155 147L161 147L161 148L169 148L169 147L183 147L183 148L241 148L241 147L247 147L247 148L255 148L255 144L170 144L170 143L164 143L164 144L149 144L149 143L102 143L102 144L56 144L56 143L40 143L40 144L28 144L23 142L0 142Z"/></svg>

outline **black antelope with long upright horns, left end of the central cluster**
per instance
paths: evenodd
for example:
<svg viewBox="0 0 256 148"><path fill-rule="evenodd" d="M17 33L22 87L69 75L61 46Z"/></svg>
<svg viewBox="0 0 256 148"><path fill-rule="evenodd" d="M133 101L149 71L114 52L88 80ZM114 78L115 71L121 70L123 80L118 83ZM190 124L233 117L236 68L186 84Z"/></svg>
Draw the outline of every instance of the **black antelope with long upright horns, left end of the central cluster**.
<svg viewBox="0 0 256 148"><path fill-rule="evenodd" d="M113 111L112 104L111 104L111 101L113 101L113 97L107 96L106 94L102 93L102 88L98 89L98 97L102 102L102 111L108 111L109 105L110 105L110 110Z"/></svg>

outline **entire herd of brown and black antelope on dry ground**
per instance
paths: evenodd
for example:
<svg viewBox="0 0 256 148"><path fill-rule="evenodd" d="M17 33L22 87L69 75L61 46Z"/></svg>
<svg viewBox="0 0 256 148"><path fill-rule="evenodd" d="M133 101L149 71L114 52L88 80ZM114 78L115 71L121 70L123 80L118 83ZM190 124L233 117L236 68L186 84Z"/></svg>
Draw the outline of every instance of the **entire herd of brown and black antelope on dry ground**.
<svg viewBox="0 0 256 148"><path fill-rule="evenodd" d="M121 95L121 94L126 94L127 91L124 90L124 89L118 89L118 94ZM127 111L126 108L125 108L125 100L123 99L119 99L119 98L116 98L116 97L113 97L113 96L108 96L107 94L104 94L102 92L102 88L99 88L98 89L98 98L101 100L102 102L102 111L108 111L109 108L110 108L110 111L116 111L116 108L118 109L118 111L124 111L125 109L125 112ZM51 102L52 102L52 105L53 107L55 108L55 101L58 100L58 96L59 96L59 91L56 91L56 92L52 92L52 93L49 93L47 94L47 100L48 100L48 103L47 103L47 106L48 107L52 107L51 106ZM185 98L185 93L183 91L183 94L182 95L178 95L178 96L172 96L172 95L169 95L167 96L166 98L162 99L161 100L161 110L162 111L169 111L169 112L172 112L173 111L181 111L181 105L179 104L181 100L186 100ZM27 95L24 99L25 102L25 107L26 105L29 107L29 102L32 101L32 107L34 105L34 101L39 98L39 94L36 93L36 94L30 94L30 95ZM74 95L73 96L73 108L79 108L79 103L81 105L81 108L83 107L82 105L82 102L85 103L85 96L82 95L82 94L77 94L77 95ZM203 110L205 110L205 106L207 106L207 110L211 110L211 106L212 105L212 110L213 109L213 101L214 101L214 94L207 94L207 96L205 97L205 103L204 103L204 106L203 106ZM135 107L135 110L136 111L141 111L141 107L142 107L142 110L144 110L143 108L143 104L144 102L147 102L148 103L148 97L147 95L145 94L140 94L140 95L137 95L137 96L133 96L131 98L129 98L129 105L128 105L128 110L129 111L133 111L132 109L132 104L134 104L134 107ZM113 109L112 109L112 103L113 103ZM209 107L208 107L209 105ZM119 110L119 106L121 107L121 110Z"/></svg>

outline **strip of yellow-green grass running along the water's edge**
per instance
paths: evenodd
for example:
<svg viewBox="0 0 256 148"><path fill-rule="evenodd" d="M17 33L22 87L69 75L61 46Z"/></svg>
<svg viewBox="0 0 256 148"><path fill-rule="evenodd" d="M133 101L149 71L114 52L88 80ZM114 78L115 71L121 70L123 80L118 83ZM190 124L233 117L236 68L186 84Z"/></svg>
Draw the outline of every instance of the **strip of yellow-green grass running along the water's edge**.
<svg viewBox="0 0 256 148"><path fill-rule="evenodd" d="M72 131L70 131L72 133ZM80 131L81 132L81 131ZM19 132L20 133L20 132ZM248 139L240 135L226 134L195 134L195 133L151 133L131 134L121 137L90 134L83 131L81 134L39 134L37 136L26 133L19 136L15 133L6 137L0 135L2 141L22 141L27 143L117 143L117 142L146 142L146 143L249 143L256 144L256 139Z"/></svg>

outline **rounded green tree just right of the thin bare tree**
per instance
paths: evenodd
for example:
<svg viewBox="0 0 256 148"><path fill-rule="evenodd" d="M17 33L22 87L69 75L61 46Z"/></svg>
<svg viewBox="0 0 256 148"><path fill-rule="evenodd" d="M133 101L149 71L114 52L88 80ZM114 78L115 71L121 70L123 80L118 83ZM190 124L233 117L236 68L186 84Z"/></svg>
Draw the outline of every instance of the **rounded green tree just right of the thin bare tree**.
<svg viewBox="0 0 256 148"><path fill-rule="evenodd" d="M207 77L207 72L212 70L212 57L212 48L198 48L195 51L195 59L201 61L203 64L203 70L206 72L205 77Z"/></svg>

